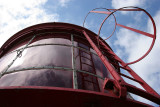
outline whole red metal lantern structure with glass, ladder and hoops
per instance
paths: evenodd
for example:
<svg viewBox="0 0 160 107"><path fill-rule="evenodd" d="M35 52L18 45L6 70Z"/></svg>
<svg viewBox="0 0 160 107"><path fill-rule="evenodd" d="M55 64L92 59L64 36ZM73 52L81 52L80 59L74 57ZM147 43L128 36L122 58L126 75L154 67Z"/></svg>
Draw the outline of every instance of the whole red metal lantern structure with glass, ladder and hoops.
<svg viewBox="0 0 160 107"><path fill-rule="evenodd" d="M43 23L23 29L4 43L0 48L2 106L150 106L134 100L129 93L160 104L159 94L128 66L147 56L154 45L156 27L152 17L137 7L95 10L89 13L108 14L98 35L73 24ZM145 12L153 23L154 34L118 24L114 16L117 11ZM120 26L153 39L144 56L125 63L99 36L110 15L115 18L114 31ZM139 83L144 90L127 83L122 76Z"/></svg>

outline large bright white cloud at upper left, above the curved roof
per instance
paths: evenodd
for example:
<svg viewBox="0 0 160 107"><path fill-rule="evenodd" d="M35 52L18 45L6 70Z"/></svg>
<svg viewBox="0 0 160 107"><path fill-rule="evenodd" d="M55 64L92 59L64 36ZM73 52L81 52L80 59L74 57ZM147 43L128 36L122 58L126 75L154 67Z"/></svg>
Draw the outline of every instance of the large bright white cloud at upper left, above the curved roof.
<svg viewBox="0 0 160 107"><path fill-rule="evenodd" d="M0 46L19 30L48 21L58 21L57 13L47 14L47 0L0 0Z"/></svg>

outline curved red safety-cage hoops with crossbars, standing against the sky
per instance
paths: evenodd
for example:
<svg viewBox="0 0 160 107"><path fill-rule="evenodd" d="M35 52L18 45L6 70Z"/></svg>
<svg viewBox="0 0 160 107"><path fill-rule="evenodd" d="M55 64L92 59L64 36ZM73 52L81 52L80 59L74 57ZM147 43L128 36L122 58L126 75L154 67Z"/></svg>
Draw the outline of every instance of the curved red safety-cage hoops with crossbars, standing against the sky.
<svg viewBox="0 0 160 107"><path fill-rule="evenodd" d="M133 8L133 9L127 9L127 8ZM106 9L106 8L96 8L96 9ZM94 11L94 10L96 10L96 9L93 9L92 11ZM113 15L113 16L114 16L114 19L115 19L115 28L114 28L112 34L111 34L107 39L109 39L109 38L113 35L113 33L114 33L115 30L116 30L116 26L120 26L120 27L123 27L123 28L127 28L127 29L129 29L129 30L132 29L132 31L137 32L137 33L144 34L144 35L146 35L146 36L148 36L148 35L149 35L150 37L153 36L153 37L152 37L153 40L152 40L151 46L149 47L149 49L147 50L147 52L146 52L143 56L141 56L140 58L138 58L138 59L136 59L136 60L134 60L134 61L132 61L132 62L126 63L126 66L127 66L127 65L131 65L131 64L134 64L134 63L137 63L137 62L139 62L140 60L142 60L143 58L145 58L145 57L150 53L150 51L152 50L152 48L153 48L153 46L154 46L154 43L155 43L155 40L156 40L156 25L155 25L155 22L154 22L152 16L151 16L146 10L144 10L144 9L142 9L142 8L139 8L139 7L133 7L133 6L122 7L122 8L119 8L119 9L106 9L106 10L108 10L110 13L109 13L108 16L103 20L103 22L102 22L101 25L100 25L100 28L99 28L99 31L98 31L98 37L97 37L98 46L99 46L99 35L100 35L100 32L101 32L101 28L102 28L103 24L105 23L105 21L106 21L111 15ZM112 10L112 12L111 12L111 10ZM146 33L146 32L143 32L143 31L139 31L139 30L137 30L137 29L133 29L133 28L129 28L129 27L126 27L126 26L117 24L116 17L115 17L115 15L114 15L114 13L117 12L117 11L143 11L145 14L147 14L147 16L150 18L150 20L151 20L151 22L152 22L152 24L153 24L154 34L151 35L151 34L149 34L149 33ZM85 17L85 19L84 19L84 22L83 22L83 27L84 27L85 20L86 20L87 16L88 16L90 13L91 13L91 11L86 15L86 17ZM104 40L107 40L107 39L104 39Z"/></svg>

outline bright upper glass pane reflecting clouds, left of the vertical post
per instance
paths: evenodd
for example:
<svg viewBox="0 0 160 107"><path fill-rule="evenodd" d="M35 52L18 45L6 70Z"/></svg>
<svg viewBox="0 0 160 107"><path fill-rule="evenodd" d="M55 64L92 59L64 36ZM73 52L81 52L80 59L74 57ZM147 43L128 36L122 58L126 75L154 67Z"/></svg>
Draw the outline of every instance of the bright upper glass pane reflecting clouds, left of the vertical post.
<svg viewBox="0 0 160 107"><path fill-rule="evenodd" d="M59 66L72 68L71 48L65 46L36 46L27 48L9 71L43 66Z"/></svg>

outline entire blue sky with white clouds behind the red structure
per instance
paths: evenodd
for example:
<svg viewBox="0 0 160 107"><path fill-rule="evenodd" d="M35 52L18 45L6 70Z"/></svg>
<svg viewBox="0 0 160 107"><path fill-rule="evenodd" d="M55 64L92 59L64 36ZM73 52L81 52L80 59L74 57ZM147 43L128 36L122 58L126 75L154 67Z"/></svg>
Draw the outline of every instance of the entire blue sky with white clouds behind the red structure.
<svg viewBox="0 0 160 107"><path fill-rule="evenodd" d="M159 4L159 0L0 0L0 46L13 34L31 25L44 22L68 22L82 26L86 14L94 8L138 6L147 10L154 18L157 26L157 40L151 53L131 67L160 94ZM120 24L149 33L153 32L148 17L142 12L119 12L115 15ZM100 23L105 17L106 15L90 14L85 27L98 33ZM102 28L101 37L109 36L113 28L114 20L110 17ZM130 62L147 51L151 39L118 27L106 42L122 59ZM135 98L151 104L142 98Z"/></svg>

